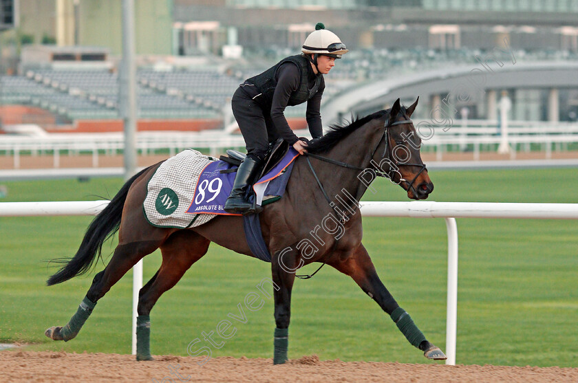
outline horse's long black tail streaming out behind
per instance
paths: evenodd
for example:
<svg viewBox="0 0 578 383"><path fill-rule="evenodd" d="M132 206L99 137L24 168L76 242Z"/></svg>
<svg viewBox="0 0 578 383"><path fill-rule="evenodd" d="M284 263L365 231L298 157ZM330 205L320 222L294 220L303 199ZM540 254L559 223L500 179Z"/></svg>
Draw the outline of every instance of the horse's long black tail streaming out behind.
<svg viewBox="0 0 578 383"><path fill-rule="evenodd" d="M71 259L54 259L53 262L66 264L56 274L48 278L47 285L52 286L56 285L56 283L68 281L70 278L90 270L94 260L101 256L100 252L102 251L103 243L106 239L113 236L120 227L122 208L125 206L129 188L148 169L145 168L133 175L111 199L107 207L92 220L85 232L81 246Z"/></svg>

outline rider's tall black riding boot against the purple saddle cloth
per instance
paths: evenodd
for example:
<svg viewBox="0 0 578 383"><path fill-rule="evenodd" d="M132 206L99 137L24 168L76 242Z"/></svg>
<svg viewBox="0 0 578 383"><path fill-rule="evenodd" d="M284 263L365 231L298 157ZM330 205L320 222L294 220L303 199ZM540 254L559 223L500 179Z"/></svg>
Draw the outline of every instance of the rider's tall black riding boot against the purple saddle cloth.
<svg viewBox="0 0 578 383"><path fill-rule="evenodd" d="M255 181L257 173L261 171L261 162L253 160L251 157L245 157L245 160L239 165L233 190L225 202L224 210L236 214L253 214L259 212L253 210L253 204L245 199L247 189Z"/></svg>

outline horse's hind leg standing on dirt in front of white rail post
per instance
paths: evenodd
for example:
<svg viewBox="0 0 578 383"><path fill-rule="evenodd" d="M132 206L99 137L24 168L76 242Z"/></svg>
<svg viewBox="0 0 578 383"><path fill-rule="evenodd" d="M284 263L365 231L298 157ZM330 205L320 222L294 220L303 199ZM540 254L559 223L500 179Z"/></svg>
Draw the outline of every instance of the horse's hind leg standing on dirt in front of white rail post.
<svg viewBox="0 0 578 383"><path fill-rule="evenodd" d="M171 289L189 267L198 261L211 243L190 230L175 232L162 244L162 263L158 272L142 289L138 297L136 318L136 360L153 360L151 356L151 309L160 296Z"/></svg>

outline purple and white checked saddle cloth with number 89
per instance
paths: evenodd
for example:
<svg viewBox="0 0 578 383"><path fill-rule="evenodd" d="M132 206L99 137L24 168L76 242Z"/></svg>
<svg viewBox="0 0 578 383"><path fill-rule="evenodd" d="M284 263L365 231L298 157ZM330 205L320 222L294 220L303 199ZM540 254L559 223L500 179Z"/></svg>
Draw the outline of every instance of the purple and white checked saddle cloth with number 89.
<svg viewBox="0 0 578 383"><path fill-rule="evenodd" d="M255 182L257 205L281 198L298 155L291 148L283 160ZM230 172L231 168L235 166L193 149L169 158L149 180L144 217L160 228L193 228L217 215L234 215L223 210L236 174Z"/></svg>

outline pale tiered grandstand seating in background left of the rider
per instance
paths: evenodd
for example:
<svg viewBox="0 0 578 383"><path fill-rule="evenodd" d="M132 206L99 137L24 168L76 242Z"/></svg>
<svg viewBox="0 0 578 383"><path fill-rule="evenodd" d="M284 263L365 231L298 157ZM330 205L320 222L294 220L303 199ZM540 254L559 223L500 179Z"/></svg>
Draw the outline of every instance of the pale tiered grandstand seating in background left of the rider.
<svg viewBox="0 0 578 383"><path fill-rule="evenodd" d="M144 69L137 77L138 117L144 119L222 118L240 83L231 76L195 70ZM28 70L25 76L0 76L0 104L34 105L69 122L120 118L118 91L118 74L102 71L41 69Z"/></svg>

